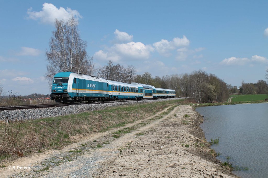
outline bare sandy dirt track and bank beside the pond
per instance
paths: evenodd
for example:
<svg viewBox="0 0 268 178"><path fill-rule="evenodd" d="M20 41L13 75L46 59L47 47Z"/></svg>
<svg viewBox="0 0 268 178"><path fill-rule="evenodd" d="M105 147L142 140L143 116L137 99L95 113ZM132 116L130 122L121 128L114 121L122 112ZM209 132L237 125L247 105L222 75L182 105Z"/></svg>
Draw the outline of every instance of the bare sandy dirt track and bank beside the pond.
<svg viewBox="0 0 268 178"><path fill-rule="evenodd" d="M4 177L236 177L210 153L189 105L7 163ZM30 169L10 170L8 166Z"/></svg>

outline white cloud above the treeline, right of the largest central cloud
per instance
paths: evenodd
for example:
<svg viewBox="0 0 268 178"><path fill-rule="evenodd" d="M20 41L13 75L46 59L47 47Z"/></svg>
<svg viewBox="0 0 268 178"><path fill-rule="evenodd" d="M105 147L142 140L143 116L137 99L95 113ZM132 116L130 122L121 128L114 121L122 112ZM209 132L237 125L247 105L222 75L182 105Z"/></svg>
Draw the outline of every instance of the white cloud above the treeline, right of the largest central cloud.
<svg viewBox="0 0 268 178"><path fill-rule="evenodd" d="M186 38L186 36L183 36L183 38L173 38L172 41L162 39L161 41L155 42L153 46L160 55L168 57L171 55L169 51L178 47L189 46L189 44L190 41Z"/></svg>

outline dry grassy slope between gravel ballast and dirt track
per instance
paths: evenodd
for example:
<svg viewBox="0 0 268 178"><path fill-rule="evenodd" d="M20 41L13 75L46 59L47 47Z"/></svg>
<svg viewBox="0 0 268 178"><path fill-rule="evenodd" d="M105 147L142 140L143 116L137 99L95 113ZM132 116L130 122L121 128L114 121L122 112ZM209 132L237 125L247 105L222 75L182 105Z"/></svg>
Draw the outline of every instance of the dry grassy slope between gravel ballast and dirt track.
<svg viewBox="0 0 268 178"><path fill-rule="evenodd" d="M42 152L43 149L61 149L74 138L123 126L181 103L183 100L169 100L24 122L0 123L0 159Z"/></svg>

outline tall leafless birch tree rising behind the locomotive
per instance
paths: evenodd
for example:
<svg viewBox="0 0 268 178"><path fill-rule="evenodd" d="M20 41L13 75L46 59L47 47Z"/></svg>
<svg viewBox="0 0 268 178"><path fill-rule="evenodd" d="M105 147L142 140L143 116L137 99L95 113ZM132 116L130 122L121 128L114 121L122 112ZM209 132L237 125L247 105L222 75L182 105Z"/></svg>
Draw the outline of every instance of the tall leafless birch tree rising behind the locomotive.
<svg viewBox="0 0 268 178"><path fill-rule="evenodd" d="M55 19L56 30L50 38L50 51L46 51L47 79L52 80L56 73L67 71L92 75L93 58L88 56L87 42L80 38L77 26L74 17L68 21Z"/></svg>

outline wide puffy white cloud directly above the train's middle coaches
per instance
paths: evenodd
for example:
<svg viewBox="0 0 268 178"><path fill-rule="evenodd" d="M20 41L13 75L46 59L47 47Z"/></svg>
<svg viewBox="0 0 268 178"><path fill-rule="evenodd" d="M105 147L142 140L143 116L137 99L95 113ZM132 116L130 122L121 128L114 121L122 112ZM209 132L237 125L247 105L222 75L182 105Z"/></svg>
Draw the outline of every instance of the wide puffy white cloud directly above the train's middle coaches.
<svg viewBox="0 0 268 178"><path fill-rule="evenodd" d="M95 52L96 60L111 60L117 62L119 60L128 59L148 59L150 53L154 51L151 45L144 45L142 42L129 42L122 44L114 44L112 47Z"/></svg>

